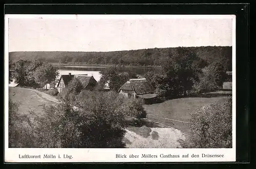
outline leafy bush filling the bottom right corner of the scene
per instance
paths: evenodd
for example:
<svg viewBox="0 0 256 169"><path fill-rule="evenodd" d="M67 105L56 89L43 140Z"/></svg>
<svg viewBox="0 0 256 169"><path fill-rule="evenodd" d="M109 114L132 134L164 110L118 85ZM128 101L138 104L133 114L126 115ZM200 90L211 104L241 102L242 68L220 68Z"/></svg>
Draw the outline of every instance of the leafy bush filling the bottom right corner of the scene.
<svg viewBox="0 0 256 169"><path fill-rule="evenodd" d="M190 140L193 148L232 147L232 99L204 106L190 119Z"/></svg>

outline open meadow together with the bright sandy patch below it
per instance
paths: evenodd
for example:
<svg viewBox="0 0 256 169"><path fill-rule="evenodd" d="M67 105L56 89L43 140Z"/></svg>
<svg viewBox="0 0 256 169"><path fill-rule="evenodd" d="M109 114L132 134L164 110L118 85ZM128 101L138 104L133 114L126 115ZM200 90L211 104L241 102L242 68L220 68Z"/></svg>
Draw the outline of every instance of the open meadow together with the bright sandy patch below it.
<svg viewBox="0 0 256 169"><path fill-rule="evenodd" d="M148 128L129 127L125 134L126 145L129 148L182 148L184 143L189 143L190 114L202 106L226 99L226 96L181 98L144 105L146 121L151 123L145 123Z"/></svg>

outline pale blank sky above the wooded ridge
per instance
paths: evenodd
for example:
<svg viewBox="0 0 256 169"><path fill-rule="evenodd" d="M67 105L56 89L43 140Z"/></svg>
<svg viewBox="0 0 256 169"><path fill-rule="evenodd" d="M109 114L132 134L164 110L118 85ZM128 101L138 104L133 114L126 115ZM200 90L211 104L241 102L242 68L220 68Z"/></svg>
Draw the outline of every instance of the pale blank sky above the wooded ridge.
<svg viewBox="0 0 256 169"><path fill-rule="evenodd" d="M9 52L231 46L231 18L9 18Z"/></svg>

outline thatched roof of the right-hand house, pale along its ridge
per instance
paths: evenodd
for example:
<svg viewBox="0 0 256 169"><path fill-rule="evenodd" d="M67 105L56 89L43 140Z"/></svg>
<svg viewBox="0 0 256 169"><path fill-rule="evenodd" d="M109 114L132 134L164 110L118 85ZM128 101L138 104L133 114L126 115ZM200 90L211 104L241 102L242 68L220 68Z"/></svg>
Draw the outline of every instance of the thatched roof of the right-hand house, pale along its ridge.
<svg viewBox="0 0 256 169"><path fill-rule="evenodd" d="M120 90L133 90L136 94L154 93L153 87L145 78L130 79L120 87L119 91Z"/></svg>

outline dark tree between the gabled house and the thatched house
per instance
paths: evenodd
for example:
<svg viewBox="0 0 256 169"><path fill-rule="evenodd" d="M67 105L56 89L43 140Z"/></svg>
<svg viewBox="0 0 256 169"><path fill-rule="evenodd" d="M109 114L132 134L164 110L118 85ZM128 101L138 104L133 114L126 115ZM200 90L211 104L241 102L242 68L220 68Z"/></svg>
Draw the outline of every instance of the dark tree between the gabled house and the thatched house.
<svg viewBox="0 0 256 169"><path fill-rule="evenodd" d="M106 82L109 82L110 89L114 91L118 91L129 79L137 78L136 74L132 73L132 71L122 72L117 66L100 71L100 74L101 79L99 83L104 85Z"/></svg>

